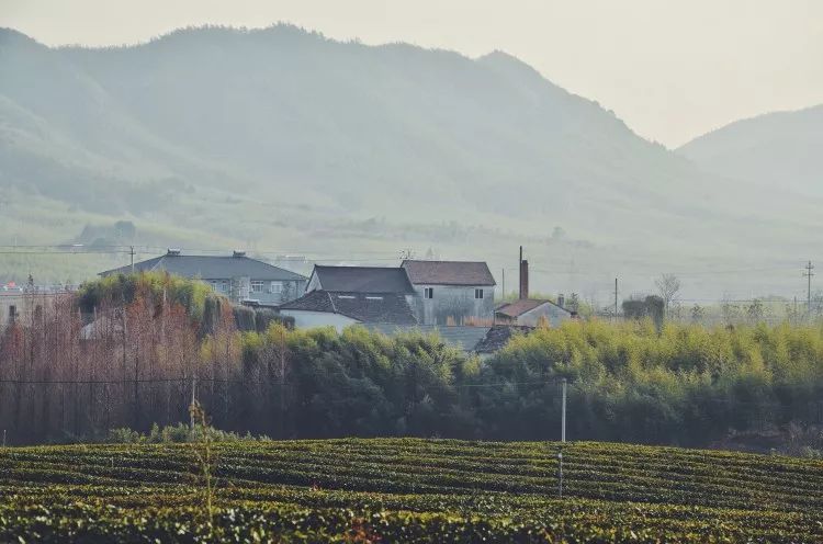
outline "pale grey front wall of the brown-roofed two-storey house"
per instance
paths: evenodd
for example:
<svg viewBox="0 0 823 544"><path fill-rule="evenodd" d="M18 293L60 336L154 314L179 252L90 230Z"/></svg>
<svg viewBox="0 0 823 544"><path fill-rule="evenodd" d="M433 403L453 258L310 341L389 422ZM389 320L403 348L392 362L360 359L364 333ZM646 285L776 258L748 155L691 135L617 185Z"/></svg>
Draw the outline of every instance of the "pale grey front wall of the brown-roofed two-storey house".
<svg viewBox="0 0 823 544"><path fill-rule="evenodd" d="M433 298L425 298L427 287L435 290ZM494 286L420 284L414 288L415 296L407 299L421 325L467 325L472 320L491 325L494 321ZM483 298L474 297L475 288L483 290Z"/></svg>

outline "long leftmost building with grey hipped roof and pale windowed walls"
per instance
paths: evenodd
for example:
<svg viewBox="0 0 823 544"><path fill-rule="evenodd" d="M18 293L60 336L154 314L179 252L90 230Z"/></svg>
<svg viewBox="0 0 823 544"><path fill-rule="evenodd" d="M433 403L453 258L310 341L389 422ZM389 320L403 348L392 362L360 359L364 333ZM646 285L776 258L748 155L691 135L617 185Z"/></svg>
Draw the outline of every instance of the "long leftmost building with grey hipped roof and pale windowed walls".
<svg viewBox="0 0 823 544"><path fill-rule="evenodd" d="M132 267L126 265L106 270L100 275L131 271ZM187 256L170 249L164 256L135 262L134 271L161 271L202 280L236 303L256 302L266 306L294 301L306 286L305 276L246 257L244 251L235 251L232 256Z"/></svg>

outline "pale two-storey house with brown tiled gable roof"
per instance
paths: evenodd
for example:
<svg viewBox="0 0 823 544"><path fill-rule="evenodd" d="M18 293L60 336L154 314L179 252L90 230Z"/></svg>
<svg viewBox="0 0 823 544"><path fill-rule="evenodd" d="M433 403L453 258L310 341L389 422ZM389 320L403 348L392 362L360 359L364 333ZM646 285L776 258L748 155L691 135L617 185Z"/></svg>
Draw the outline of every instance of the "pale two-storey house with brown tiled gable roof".
<svg viewBox="0 0 823 544"><path fill-rule="evenodd" d="M485 262L403 261L422 325L485 325L495 317L495 282Z"/></svg>

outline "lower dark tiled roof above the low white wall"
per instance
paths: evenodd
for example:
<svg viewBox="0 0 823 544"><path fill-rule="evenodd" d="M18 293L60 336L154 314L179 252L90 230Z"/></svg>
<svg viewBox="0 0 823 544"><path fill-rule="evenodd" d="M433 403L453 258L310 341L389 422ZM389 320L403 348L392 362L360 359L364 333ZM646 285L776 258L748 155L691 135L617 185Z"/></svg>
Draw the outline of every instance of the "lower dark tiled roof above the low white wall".
<svg viewBox="0 0 823 544"><path fill-rule="evenodd" d="M396 293L331 293L318 290L283 304L280 309L339 314L367 324L417 324L406 297Z"/></svg>

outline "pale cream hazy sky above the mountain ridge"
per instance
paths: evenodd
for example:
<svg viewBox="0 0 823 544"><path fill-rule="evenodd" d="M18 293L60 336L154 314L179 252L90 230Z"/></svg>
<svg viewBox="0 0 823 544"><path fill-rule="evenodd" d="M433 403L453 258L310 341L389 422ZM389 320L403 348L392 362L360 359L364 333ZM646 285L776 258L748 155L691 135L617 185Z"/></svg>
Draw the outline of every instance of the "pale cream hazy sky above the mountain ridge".
<svg viewBox="0 0 823 544"><path fill-rule="evenodd" d="M669 147L823 103L823 0L0 0L0 26L49 45L278 21L368 44L503 49Z"/></svg>

